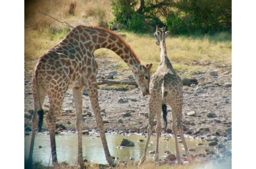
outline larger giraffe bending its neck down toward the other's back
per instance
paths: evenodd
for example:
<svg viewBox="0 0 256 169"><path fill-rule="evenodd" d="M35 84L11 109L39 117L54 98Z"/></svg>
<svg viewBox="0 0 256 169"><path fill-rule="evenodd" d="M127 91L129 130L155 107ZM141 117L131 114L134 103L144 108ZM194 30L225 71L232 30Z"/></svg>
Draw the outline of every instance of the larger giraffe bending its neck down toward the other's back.
<svg viewBox="0 0 256 169"><path fill-rule="evenodd" d="M51 141L51 157L53 165L57 164L55 143L55 125L61 110L64 95L68 88L73 89L73 99L76 110L76 125L78 133L78 162L83 165L82 155L82 90L87 89L91 106L95 113L96 124L100 132L106 161L114 166L108 150L104 134L102 117L98 104L96 75L98 64L93 52L96 49L107 48L118 54L131 68L134 78L140 87L142 95L149 95L150 68L140 63L138 56L120 35L102 27L78 25L55 47L41 56L35 66L32 77L34 99L34 114L32 118L32 136L28 163L32 165L33 146L37 128L41 130L43 122L42 103L45 95L49 97L49 112L46 122Z"/></svg>

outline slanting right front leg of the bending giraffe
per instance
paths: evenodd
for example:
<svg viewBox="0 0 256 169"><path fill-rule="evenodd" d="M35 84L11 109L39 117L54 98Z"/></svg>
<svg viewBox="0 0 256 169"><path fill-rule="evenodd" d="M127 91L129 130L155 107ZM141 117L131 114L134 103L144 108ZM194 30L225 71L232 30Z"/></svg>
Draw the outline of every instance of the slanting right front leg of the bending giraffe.
<svg viewBox="0 0 256 169"><path fill-rule="evenodd" d="M87 89L91 101L91 105L95 114L95 119L96 119L96 124L98 127L98 130L100 132L100 137L102 141L102 145L104 148L104 153L106 157L106 161L108 161L108 165L114 167L115 163L112 161L111 155L108 150L108 144L106 141L106 136L105 136L105 131L104 131L104 126L103 126L103 120L100 115L100 108L98 105L98 91L97 91L97 84L94 82L93 84L89 85Z"/></svg>

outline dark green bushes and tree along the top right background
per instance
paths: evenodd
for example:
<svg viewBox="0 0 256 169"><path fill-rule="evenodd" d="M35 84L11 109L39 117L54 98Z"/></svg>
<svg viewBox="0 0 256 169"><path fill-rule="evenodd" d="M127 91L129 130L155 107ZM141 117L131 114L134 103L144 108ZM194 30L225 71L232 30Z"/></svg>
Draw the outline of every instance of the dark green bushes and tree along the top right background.
<svg viewBox="0 0 256 169"><path fill-rule="evenodd" d="M165 23L173 34L231 32L231 0L112 0L112 25L151 32ZM141 5L138 9L138 4ZM163 23L162 23L162 21Z"/></svg>

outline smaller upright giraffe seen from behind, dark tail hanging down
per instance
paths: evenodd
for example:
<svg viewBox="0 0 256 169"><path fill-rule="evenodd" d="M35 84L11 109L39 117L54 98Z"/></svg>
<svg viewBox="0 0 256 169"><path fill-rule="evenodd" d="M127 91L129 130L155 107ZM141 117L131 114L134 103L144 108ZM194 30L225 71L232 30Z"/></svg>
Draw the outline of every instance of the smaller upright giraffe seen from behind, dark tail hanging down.
<svg viewBox="0 0 256 169"><path fill-rule="evenodd" d="M153 122L154 118L157 117L156 125L156 151L154 154L154 160L158 159L158 145L159 137L161 131L161 108L163 110L163 118L165 122L165 128L167 126L167 110L166 104L171 107L172 111L172 130L175 138L176 146L176 157L179 162L181 162L181 157L179 153L177 131L179 131L181 140L183 142L185 152L189 155L187 144L183 137L182 132L182 82L181 78L176 74L173 69L170 60L167 57L166 46L165 46L165 36L169 32L165 32L165 26L163 28L156 27L156 45L160 45L160 64L156 72L152 75L150 80L150 95L148 96L149 105L149 126L148 126L148 137L146 145L144 148L144 153L140 159L140 164L142 164L146 159L146 152L148 148L148 142L150 136L153 132ZM161 38L161 40L160 40Z"/></svg>

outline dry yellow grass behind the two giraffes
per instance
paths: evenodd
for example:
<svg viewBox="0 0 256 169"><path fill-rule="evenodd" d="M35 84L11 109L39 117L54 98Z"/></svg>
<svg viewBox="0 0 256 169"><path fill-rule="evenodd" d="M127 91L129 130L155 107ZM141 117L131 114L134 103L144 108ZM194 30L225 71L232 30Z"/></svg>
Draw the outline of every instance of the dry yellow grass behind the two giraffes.
<svg viewBox="0 0 256 169"><path fill-rule="evenodd" d="M77 3L74 15L70 15L68 12L72 2ZM28 59L39 58L44 52L59 43L68 32L65 24L40 14L39 10L60 21L67 21L73 26L87 24L106 27L106 22L112 18L108 0L37 0L26 3L25 63ZM119 33L126 35L124 39L138 54L143 64L153 63L151 72L154 72L160 62L160 52L159 46L155 45L153 32L151 34ZM166 45L167 55L175 70L203 71L205 66L193 64L197 61L231 64L230 33L193 37L169 35ZM121 58L110 50L99 49L94 54L100 60L116 62L118 69L128 69Z"/></svg>

